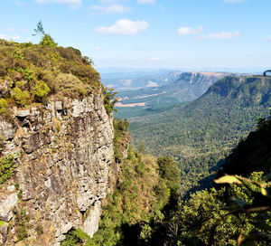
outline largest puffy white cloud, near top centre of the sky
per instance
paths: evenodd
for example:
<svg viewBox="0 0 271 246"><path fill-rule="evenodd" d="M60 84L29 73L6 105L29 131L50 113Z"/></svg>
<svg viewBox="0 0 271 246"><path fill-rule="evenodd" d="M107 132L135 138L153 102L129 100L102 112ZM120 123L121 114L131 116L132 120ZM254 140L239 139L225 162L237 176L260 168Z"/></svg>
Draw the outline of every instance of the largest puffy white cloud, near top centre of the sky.
<svg viewBox="0 0 271 246"><path fill-rule="evenodd" d="M149 24L146 21L130 21L121 19L116 24L111 26L100 26L96 32L102 34L121 34L121 35L135 35L140 31L146 31Z"/></svg>

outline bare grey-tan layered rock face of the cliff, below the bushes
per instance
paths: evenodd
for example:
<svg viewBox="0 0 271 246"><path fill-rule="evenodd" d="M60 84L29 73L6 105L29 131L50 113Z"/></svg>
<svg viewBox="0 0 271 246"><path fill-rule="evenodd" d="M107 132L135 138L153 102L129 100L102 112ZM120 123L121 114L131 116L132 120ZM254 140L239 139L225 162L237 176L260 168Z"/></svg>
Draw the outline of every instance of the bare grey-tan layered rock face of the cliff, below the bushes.
<svg viewBox="0 0 271 246"><path fill-rule="evenodd" d="M29 245L60 245L71 228L92 236L117 173L113 122L102 98L51 99L42 109L14 109L14 119L13 127L0 121L0 135L6 139L2 155L20 153L16 174L0 191L10 202L0 207L0 217L12 224L10 230L0 230L0 243L18 240L19 216L12 215L13 208L27 215ZM19 188L6 189L15 183Z"/></svg>

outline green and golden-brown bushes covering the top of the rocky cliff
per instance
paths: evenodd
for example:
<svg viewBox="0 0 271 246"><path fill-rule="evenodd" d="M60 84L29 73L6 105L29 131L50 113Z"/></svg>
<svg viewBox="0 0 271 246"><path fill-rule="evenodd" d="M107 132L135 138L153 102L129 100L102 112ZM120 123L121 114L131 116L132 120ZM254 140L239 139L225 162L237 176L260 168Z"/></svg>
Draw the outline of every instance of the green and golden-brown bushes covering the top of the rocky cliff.
<svg viewBox="0 0 271 246"><path fill-rule="evenodd" d="M45 40L47 42L45 42ZM0 40L0 113L45 103L50 96L82 98L100 88L88 57L74 48Z"/></svg>

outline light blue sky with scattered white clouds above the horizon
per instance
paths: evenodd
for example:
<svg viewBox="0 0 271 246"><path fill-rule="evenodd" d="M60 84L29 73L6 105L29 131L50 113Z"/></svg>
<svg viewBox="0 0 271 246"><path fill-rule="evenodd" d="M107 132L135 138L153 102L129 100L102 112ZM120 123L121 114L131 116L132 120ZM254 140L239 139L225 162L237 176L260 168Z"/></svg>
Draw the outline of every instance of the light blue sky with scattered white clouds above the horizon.
<svg viewBox="0 0 271 246"><path fill-rule="evenodd" d="M270 0L0 0L0 38L39 21L97 68L271 68Z"/></svg>

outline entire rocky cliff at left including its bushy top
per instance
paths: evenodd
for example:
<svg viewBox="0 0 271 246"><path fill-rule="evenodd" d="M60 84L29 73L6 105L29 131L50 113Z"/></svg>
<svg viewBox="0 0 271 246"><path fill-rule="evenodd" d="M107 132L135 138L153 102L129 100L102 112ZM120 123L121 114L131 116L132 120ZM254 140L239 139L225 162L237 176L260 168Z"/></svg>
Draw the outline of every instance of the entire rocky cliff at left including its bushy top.
<svg viewBox="0 0 271 246"><path fill-rule="evenodd" d="M0 105L0 243L60 245L73 228L92 236L117 179L113 119L97 72L71 49L17 46L0 50L21 54L12 68L0 66L7 102ZM48 73L34 64L41 53Z"/></svg>

